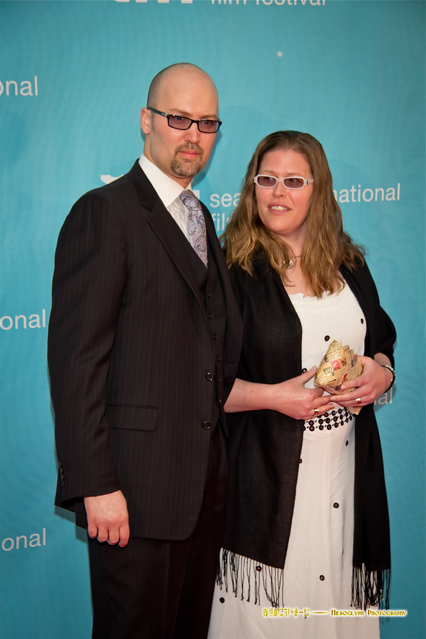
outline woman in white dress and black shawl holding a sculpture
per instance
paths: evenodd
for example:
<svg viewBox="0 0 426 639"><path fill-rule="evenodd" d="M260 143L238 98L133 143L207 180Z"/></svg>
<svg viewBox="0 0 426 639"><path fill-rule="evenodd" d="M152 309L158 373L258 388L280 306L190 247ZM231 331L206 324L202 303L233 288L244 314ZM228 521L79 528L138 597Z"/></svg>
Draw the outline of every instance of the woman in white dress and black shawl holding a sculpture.
<svg viewBox="0 0 426 639"><path fill-rule="evenodd" d="M395 329L314 137L259 143L224 236L245 337L209 637L377 639L390 539L373 403L395 380ZM363 374L330 397L313 378L333 339Z"/></svg>

